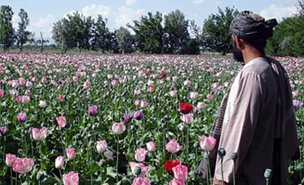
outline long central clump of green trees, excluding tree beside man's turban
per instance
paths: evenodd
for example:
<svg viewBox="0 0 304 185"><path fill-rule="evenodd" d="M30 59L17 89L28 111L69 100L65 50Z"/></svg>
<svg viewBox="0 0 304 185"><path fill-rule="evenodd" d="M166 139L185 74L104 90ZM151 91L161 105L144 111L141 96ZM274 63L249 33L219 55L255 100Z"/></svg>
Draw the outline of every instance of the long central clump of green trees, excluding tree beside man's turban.
<svg viewBox="0 0 304 185"><path fill-rule="evenodd" d="M155 15L149 12L133 22L134 26L127 26L135 35L124 27L110 32L106 26L107 19L101 15L95 20L76 12L54 24L53 39L61 46L63 53L76 47L80 52L89 49L114 53L132 53L135 50L154 54L199 53L199 37L190 37L189 20L179 10L165 15L164 19L160 12Z"/></svg>

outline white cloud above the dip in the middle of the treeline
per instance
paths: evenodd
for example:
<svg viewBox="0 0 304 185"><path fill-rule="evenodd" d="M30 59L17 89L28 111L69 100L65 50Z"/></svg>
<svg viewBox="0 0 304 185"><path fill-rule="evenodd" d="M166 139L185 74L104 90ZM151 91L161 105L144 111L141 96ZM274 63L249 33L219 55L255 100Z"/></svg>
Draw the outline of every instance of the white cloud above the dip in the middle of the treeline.
<svg viewBox="0 0 304 185"><path fill-rule="evenodd" d="M124 26L127 23L132 23L132 20L139 19L144 13L143 9L132 9L126 6L119 7L117 9L118 13L115 18L116 29Z"/></svg>

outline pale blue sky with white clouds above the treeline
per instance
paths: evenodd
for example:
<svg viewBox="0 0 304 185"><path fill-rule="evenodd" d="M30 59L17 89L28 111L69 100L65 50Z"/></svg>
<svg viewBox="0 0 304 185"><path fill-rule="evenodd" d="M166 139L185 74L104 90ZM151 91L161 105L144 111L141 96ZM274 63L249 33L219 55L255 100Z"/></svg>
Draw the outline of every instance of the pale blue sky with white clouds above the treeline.
<svg viewBox="0 0 304 185"><path fill-rule="evenodd" d="M20 8L29 16L28 30L40 37L51 38L53 23L67 14L80 12L84 16L97 18L101 14L107 18L107 27L114 31L132 20L156 11L166 15L176 9L182 11L186 19L195 20L200 27L211 14L218 13L218 7L234 7L239 11L250 10L265 19L290 17L297 12L297 0L0 0L1 5L10 5L13 9L13 26L18 29ZM131 31L131 30L130 30Z"/></svg>

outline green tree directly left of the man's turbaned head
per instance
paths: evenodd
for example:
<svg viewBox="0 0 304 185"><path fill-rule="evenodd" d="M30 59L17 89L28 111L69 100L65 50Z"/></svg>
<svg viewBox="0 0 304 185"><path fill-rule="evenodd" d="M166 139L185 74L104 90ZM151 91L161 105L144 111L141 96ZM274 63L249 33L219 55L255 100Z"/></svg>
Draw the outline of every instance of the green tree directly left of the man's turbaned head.
<svg viewBox="0 0 304 185"><path fill-rule="evenodd" d="M229 31L230 23L238 14L238 10L226 7L219 8L218 14L211 14L203 24L204 48L226 55L232 50L232 37Z"/></svg>

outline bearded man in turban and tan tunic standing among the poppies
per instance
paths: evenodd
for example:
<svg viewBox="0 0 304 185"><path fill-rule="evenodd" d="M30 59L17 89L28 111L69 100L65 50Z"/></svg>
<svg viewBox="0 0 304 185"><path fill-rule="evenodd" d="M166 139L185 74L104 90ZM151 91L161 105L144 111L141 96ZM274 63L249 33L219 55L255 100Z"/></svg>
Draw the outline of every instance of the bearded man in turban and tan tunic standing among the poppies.
<svg viewBox="0 0 304 185"><path fill-rule="evenodd" d="M273 171L272 185L286 185L287 162L297 153L299 143L287 74L264 53L275 25L275 19L265 21L248 11L231 22L233 56L244 66L221 105L225 109L218 148L224 148L227 155L223 157L224 182L221 159L216 159L214 184L233 183L230 153L237 152L236 185L264 185L266 168Z"/></svg>

